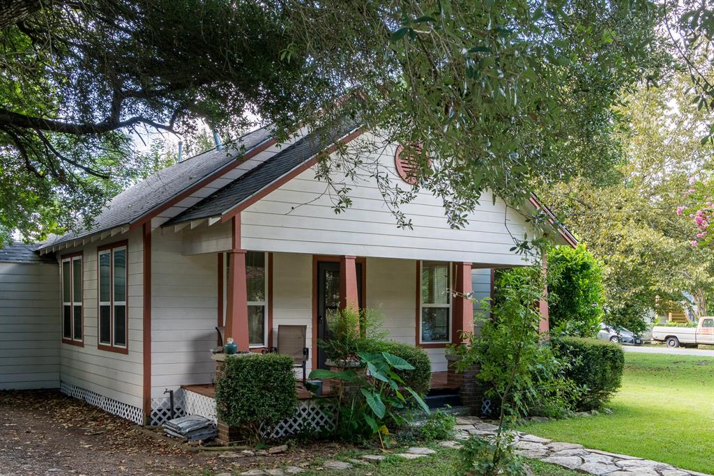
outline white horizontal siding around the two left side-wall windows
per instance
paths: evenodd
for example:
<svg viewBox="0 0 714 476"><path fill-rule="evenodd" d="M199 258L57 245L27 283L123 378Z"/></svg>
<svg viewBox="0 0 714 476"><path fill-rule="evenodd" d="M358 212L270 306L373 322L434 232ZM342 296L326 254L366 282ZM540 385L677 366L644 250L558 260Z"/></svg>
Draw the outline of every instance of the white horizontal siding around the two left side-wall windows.
<svg viewBox="0 0 714 476"><path fill-rule="evenodd" d="M99 343L97 248L127 239L129 240L127 256L129 353L121 354L100 350L97 347ZM78 251L83 253L84 266L84 346L59 344L61 380L141 408L144 388L144 241L141 229L88 243L84 247L69 248L64 253ZM59 283L59 270L57 273L56 280ZM58 297L58 309L59 306Z"/></svg>

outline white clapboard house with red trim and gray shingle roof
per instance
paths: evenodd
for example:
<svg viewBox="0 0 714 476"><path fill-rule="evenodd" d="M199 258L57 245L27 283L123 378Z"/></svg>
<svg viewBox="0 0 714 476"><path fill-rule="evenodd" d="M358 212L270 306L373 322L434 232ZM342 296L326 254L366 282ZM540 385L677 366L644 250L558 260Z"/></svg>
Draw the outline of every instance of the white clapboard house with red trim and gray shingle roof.
<svg viewBox="0 0 714 476"><path fill-rule="evenodd" d="M276 345L278 325L307 325L308 367L317 368L327 316L350 303L379 310L390 338L421 345L433 370L446 370L446 347L473 329L471 302L450 290L488 297L492 268L526 264L510 248L528 224L485 195L468 226L453 230L422 191L402 206L414 225L402 230L368 177L348 183L353 205L336 214L313 166L338 141L369 141L377 152L366 160L409 180L397 146L372 133L347 127L326 141L278 144L261 128L237 141L241 154L219 148L177 163L116 196L91 230L40 245L39 256L59 263L48 288L56 307L28 302L21 315L44 323L61 309L61 336L42 346L59 352L62 390L156 422L165 390L211 382L216 325L254 351ZM536 207L535 198L524 204ZM575 244L563 228L553 235ZM24 345L37 348L31 336Z"/></svg>

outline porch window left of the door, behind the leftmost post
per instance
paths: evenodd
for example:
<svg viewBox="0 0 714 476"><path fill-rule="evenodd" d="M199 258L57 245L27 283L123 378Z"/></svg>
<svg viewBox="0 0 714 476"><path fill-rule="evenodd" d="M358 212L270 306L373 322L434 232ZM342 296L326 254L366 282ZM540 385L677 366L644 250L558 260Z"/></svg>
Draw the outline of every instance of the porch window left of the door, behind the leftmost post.
<svg viewBox="0 0 714 476"><path fill-rule="evenodd" d="M253 348L268 347L268 262L263 251L246 252L246 291L248 294L248 343ZM230 263L226 255L226 279ZM228 289L224 296L228 296ZM224 298L225 303L225 298ZM233 336L229 336L233 337Z"/></svg>

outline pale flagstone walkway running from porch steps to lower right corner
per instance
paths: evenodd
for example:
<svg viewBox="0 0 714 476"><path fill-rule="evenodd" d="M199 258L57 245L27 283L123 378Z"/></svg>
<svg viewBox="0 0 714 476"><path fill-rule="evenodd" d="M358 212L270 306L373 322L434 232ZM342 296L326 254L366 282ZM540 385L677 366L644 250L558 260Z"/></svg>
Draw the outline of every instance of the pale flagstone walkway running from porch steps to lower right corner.
<svg viewBox="0 0 714 476"><path fill-rule="evenodd" d="M478 417L458 417L456 422L456 440L466 440L472 434L483 437L493 437L496 434L496 425L483 422ZM516 445L516 452L519 455L590 475L709 476L700 472L680 470L657 461L600 450L588 450L583 445L554 442L521 432L516 435L514 445ZM441 446L460 447L458 441L443 441Z"/></svg>

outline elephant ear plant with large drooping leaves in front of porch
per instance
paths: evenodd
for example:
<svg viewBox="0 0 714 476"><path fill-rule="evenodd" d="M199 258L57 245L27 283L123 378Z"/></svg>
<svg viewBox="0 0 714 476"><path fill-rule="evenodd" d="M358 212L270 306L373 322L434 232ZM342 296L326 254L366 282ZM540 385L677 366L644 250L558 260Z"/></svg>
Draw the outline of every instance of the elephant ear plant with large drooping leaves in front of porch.
<svg viewBox="0 0 714 476"><path fill-rule="evenodd" d="M427 415L429 407L421 395L404 384L398 370L414 367L396 355L381 352L357 354L366 365L368 375L363 377L353 370L331 372L313 370L310 378L338 379L350 383L359 392L344 397L340 402L336 432L347 440L370 438L377 435L383 447L391 443L390 430L404 425L406 410L421 408Z"/></svg>

